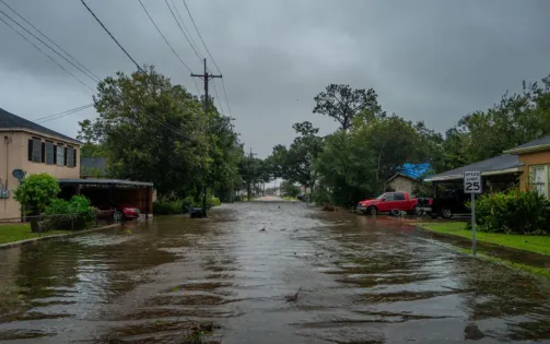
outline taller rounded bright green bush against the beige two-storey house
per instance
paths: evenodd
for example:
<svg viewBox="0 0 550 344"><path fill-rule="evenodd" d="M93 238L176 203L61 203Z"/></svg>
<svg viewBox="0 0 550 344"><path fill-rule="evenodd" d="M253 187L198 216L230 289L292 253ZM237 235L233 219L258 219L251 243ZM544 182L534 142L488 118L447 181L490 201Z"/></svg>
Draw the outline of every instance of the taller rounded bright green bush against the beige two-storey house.
<svg viewBox="0 0 550 344"><path fill-rule="evenodd" d="M21 203L23 213L39 214L60 191L56 178L48 174L37 174L23 178L13 194L15 201Z"/></svg>

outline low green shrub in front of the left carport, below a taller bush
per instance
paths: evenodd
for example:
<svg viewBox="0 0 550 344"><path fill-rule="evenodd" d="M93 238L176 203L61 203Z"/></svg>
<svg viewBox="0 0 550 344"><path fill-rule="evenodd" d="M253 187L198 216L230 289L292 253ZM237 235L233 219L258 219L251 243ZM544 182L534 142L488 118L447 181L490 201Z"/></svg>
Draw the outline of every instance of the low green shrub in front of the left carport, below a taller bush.
<svg viewBox="0 0 550 344"><path fill-rule="evenodd" d="M44 215L48 215L44 220L46 229L84 229L95 222L96 216L83 195L73 195L70 201L54 199Z"/></svg>

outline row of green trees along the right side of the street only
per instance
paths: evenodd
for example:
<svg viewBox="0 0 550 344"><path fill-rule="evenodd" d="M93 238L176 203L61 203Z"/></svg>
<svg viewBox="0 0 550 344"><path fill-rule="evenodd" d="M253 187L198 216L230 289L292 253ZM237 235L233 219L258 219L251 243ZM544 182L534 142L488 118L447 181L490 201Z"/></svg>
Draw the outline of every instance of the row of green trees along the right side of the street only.
<svg viewBox="0 0 550 344"><path fill-rule="evenodd" d="M339 129L319 137L311 122L295 123L294 141L276 145L264 164L273 178L312 188L317 202L342 206L383 192L406 164L428 163L428 174L437 174L550 134L550 76L524 81L519 93L464 116L445 134L388 115L373 88L330 84L314 99L313 112L333 118Z"/></svg>

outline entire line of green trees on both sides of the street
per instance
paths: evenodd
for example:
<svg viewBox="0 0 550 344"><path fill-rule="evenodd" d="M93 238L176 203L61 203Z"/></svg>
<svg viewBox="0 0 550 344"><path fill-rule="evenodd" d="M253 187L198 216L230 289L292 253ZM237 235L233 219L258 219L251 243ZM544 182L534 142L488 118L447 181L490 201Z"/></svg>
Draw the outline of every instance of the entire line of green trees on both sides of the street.
<svg viewBox="0 0 550 344"><path fill-rule="evenodd" d="M374 88L330 84L315 96L313 112L335 119L338 130L321 137L314 123L297 122L292 143L261 159L244 152L213 99L192 95L153 67L144 71L118 72L98 84L100 116L80 123L79 139L82 156L107 158L105 177L152 181L164 199L199 199L207 183L229 200L233 190L253 192L254 182L282 178L313 190L317 202L350 206L384 191L405 164L428 163L429 173L441 173L550 134L550 76L524 82L519 93L505 93L444 134L388 114Z"/></svg>

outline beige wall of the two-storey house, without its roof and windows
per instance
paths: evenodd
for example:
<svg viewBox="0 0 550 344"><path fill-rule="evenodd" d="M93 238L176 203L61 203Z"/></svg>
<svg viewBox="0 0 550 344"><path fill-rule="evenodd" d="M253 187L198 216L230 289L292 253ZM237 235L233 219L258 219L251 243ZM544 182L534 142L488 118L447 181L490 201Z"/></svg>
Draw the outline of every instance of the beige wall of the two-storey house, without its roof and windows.
<svg viewBox="0 0 550 344"><path fill-rule="evenodd" d="M17 179L12 176L12 171L16 168L26 171L26 175L36 175L47 173L56 178L80 178L80 146L74 142L66 140L56 140L50 137L43 137L40 134L27 133L22 131L16 132L2 132L0 146L0 183L7 186L10 190L8 199L0 199L0 218L14 218L20 217L21 207L17 201L13 199L13 190L17 187ZM8 139L7 139L8 138ZM10 139L11 138L11 141ZM61 143L63 145L71 145L77 151L77 166L57 166L47 165L45 163L34 163L28 161L28 140L32 138L40 138L52 141L55 144ZM10 142L10 143L8 143Z"/></svg>

